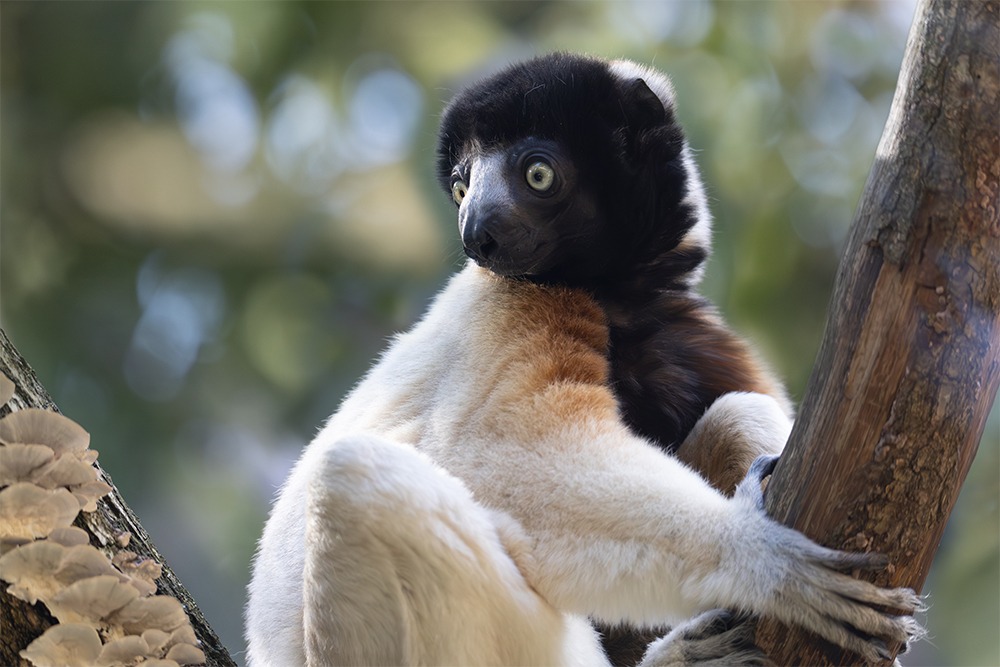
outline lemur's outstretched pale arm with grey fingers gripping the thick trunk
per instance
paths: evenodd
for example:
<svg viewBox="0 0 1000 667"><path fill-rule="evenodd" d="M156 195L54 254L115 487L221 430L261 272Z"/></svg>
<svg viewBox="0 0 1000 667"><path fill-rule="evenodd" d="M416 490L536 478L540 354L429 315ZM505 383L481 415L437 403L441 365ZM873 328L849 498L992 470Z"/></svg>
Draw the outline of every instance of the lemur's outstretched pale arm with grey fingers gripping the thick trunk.
<svg viewBox="0 0 1000 667"><path fill-rule="evenodd" d="M551 398L537 407L564 414L577 402L567 387ZM752 467L726 498L618 422L576 417L575 428L535 445L544 457L501 446L496 456L518 472L487 473L496 476L491 488L517 498L507 505L535 544L530 583L557 608L636 624L746 610L805 626L873 661L878 639L919 632L912 618L876 609L910 613L918 605L912 591L841 574L878 566L878 557L825 549L766 516L766 466ZM530 473L528 461L516 460L525 455Z"/></svg>

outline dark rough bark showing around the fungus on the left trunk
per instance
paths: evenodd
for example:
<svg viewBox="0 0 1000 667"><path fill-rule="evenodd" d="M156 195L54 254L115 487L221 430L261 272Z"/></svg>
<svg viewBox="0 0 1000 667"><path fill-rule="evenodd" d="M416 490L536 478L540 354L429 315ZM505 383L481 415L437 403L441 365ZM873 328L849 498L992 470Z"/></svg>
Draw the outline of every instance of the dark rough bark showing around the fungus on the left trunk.
<svg viewBox="0 0 1000 667"><path fill-rule="evenodd" d="M17 389L10 403L20 408L59 409L52 402L45 388L39 384L31 367L24 361L7 334L0 329L0 372L14 381ZM10 407L0 407L0 416L10 412ZM98 447L99 447L99 443ZM96 464L95 464L96 465ZM98 466L100 468L100 466ZM101 470L101 479L112 487L111 493L99 503L96 512L81 512L75 525L90 534L90 542L107 554L124 550L119 546L118 536L129 533L131 539L128 550L142 558L151 558L163 565L163 574L156 581L157 592L177 598L188 613L195 634L201 641L201 649L205 652L206 664L212 667L235 667L236 663L229 652L221 644L219 638L209 627L202 616L198 605L187 592L173 571L164 562L163 557L153 546L149 535L132 510L122 500L118 490L114 488L111 478ZM55 621L48 615L41 603L29 605L6 591L6 586L0 584L0 665L28 665L18 654L38 635Z"/></svg>

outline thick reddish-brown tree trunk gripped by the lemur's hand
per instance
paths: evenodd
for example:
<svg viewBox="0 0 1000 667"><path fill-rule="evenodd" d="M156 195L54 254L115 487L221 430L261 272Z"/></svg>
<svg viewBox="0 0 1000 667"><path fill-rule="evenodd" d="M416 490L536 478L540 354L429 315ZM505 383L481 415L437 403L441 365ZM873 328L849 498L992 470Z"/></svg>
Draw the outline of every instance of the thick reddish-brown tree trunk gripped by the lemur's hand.
<svg viewBox="0 0 1000 667"><path fill-rule="evenodd" d="M768 512L920 590L1000 382L1000 4L924 0ZM779 665L862 664L770 620ZM895 647L898 649L899 647Z"/></svg>

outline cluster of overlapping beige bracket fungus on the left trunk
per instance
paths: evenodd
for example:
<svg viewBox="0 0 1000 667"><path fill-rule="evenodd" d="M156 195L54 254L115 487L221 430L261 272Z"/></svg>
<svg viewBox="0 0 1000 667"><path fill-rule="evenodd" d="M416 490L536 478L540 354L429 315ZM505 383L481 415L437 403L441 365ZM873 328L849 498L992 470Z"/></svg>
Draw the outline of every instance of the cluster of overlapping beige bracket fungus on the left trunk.
<svg viewBox="0 0 1000 667"><path fill-rule="evenodd" d="M14 385L0 373L0 403ZM111 491L94 466L90 434L47 410L0 419L0 579L58 620L20 655L36 667L179 667L205 662L176 598L155 595L159 563L111 558L73 526Z"/></svg>

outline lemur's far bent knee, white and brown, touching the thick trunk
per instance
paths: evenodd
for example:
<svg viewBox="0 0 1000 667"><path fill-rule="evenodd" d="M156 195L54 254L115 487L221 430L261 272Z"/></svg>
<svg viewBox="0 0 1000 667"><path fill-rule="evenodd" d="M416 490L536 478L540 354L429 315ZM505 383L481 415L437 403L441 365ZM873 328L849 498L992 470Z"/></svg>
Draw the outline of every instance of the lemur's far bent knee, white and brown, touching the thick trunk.
<svg viewBox="0 0 1000 667"><path fill-rule="evenodd" d="M709 406L675 455L731 496L758 456L781 453L791 430L791 418L773 397L731 392Z"/></svg>

